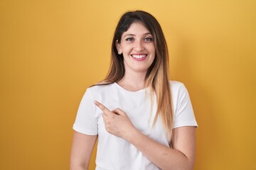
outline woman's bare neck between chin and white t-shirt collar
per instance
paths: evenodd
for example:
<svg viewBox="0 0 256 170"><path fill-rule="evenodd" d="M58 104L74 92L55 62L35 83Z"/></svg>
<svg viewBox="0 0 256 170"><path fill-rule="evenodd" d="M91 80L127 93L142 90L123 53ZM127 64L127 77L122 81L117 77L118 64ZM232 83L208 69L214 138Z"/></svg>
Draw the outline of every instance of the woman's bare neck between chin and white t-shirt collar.
<svg viewBox="0 0 256 170"><path fill-rule="evenodd" d="M145 88L145 77L146 72L129 72L129 74L124 74L124 77L117 84L128 91L139 91Z"/></svg>

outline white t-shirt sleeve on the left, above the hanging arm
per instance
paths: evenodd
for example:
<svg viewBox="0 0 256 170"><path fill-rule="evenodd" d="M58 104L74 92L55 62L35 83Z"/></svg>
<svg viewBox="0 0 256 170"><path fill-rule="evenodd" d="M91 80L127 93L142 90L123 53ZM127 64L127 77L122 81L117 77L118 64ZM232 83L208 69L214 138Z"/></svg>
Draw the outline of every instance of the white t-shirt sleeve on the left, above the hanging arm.
<svg viewBox="0 0 256 170"><path fill-rule="evenodd" d="M82 96L73 130L86 135L97 135L96 109L93 101L90 89L87 89L84 96Z"/></svg>

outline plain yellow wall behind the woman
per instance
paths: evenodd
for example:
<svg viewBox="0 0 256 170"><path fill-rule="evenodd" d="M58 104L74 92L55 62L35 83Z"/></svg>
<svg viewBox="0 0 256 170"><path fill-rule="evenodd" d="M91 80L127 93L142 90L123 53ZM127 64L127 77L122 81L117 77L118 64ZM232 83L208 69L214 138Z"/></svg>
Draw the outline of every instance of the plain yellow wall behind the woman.
<svg viewBox="0 0 256 170"><path fill-rule="evenodd" d="M68 169L80 99L105 77L119 16L134 9L159 20L172 79L190 92L195 169L256 169L254 0L1 0L0 169Z"/></svg>

